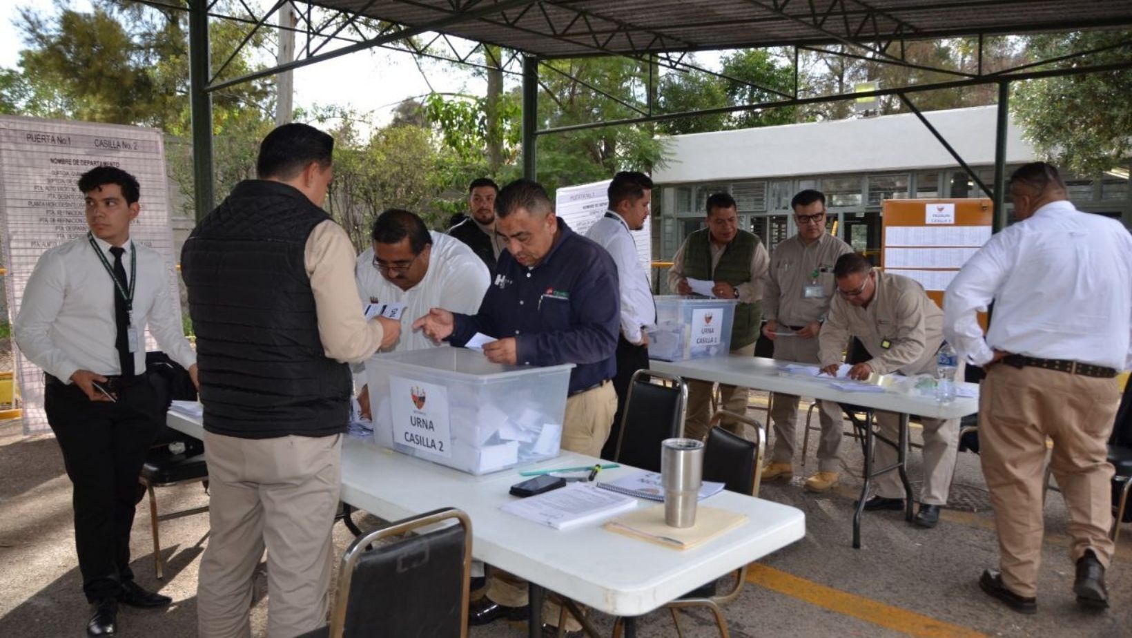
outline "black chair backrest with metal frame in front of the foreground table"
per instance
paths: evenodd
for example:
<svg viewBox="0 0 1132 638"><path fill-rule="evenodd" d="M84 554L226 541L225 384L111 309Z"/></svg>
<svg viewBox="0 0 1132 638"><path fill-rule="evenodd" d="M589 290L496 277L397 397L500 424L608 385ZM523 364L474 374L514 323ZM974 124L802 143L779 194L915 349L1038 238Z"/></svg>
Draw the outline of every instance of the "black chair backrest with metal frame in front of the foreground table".
<svg viewBox="0 0 1132 638"><path fill-rule="evenodd" d="M427 525L456 520L422 534ZM357 538L342 555L329 638L468 636L472 524L456 509L401 520Z"/></svg>

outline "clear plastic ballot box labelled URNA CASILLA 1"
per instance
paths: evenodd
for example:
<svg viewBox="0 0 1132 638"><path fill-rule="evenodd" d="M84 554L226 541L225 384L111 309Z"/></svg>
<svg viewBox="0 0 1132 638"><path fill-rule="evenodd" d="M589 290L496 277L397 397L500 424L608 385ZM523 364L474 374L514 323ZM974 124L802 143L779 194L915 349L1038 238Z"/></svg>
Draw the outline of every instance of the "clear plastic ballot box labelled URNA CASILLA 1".
<svg viewBox="0 0 1132 638"><path fill-rule="evenodd" d="M650 359L680 361L730 351L735 299L667 295L653 300L657 325L649 329Z"/></svg>

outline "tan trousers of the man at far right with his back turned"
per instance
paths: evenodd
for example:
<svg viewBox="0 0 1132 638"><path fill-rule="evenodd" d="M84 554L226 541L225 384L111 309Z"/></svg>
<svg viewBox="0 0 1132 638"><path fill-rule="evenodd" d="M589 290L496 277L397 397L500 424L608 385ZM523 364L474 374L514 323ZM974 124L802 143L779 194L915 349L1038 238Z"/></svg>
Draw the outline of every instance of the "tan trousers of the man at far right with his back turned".
<svg viewBox="0 0 1132 638"><path fill-rule="evenodd" d="M1108 567L1113 542L1108 435L1121 393L1115 378L1097 378L995 364L979 395L979 458L998 530L1003 584L1036 596L1041 562L1046 437L1050 469L1069 505L1070 559L1092 550Z"/></svg>

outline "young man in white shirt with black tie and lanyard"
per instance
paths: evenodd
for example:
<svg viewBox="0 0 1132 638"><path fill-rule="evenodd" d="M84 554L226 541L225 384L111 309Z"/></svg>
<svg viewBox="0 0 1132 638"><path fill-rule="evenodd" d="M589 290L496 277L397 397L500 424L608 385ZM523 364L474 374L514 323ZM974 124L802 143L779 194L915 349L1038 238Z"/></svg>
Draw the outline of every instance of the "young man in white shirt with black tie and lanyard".
<svg viewBox="0 0 1132 638"><path fill-rule="evenodd" d="M87 636L115 631L118 604L160 607L130 570L138 474L164 420L145 376L145 326L197 383L196 354L170 297L171 269L130 240L139 188L98 167L83 175L83 237L48 249L27 280L16 343L44 371L44 407L74 485L75 544L83 590L95 605Z"/></svg>

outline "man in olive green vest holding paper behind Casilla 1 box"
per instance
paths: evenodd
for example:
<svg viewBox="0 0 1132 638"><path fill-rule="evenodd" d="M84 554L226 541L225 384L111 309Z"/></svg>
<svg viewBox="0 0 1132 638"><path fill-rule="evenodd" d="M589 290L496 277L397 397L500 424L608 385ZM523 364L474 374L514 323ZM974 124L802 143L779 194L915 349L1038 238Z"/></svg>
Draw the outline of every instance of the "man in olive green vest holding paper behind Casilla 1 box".
<svg viewBox="0 0 1132 638"><path fill-rule="evenodd" d="M763 313L763 278L770 267L770 254L758 237L739 230L735 199L727 193L707 197L707 228L688 236L672 256L668 287L680 295L691 295L688 278L712 281L712 294L721 299L737 299L731 324L731 354L753 356ZM703 439L711 418L712 384L688 381L688 410L684 435ZM746 414L747 389L721 383L719 392L723 409ZM724 427L743 434L743 424L723 422Z"/></svg>

